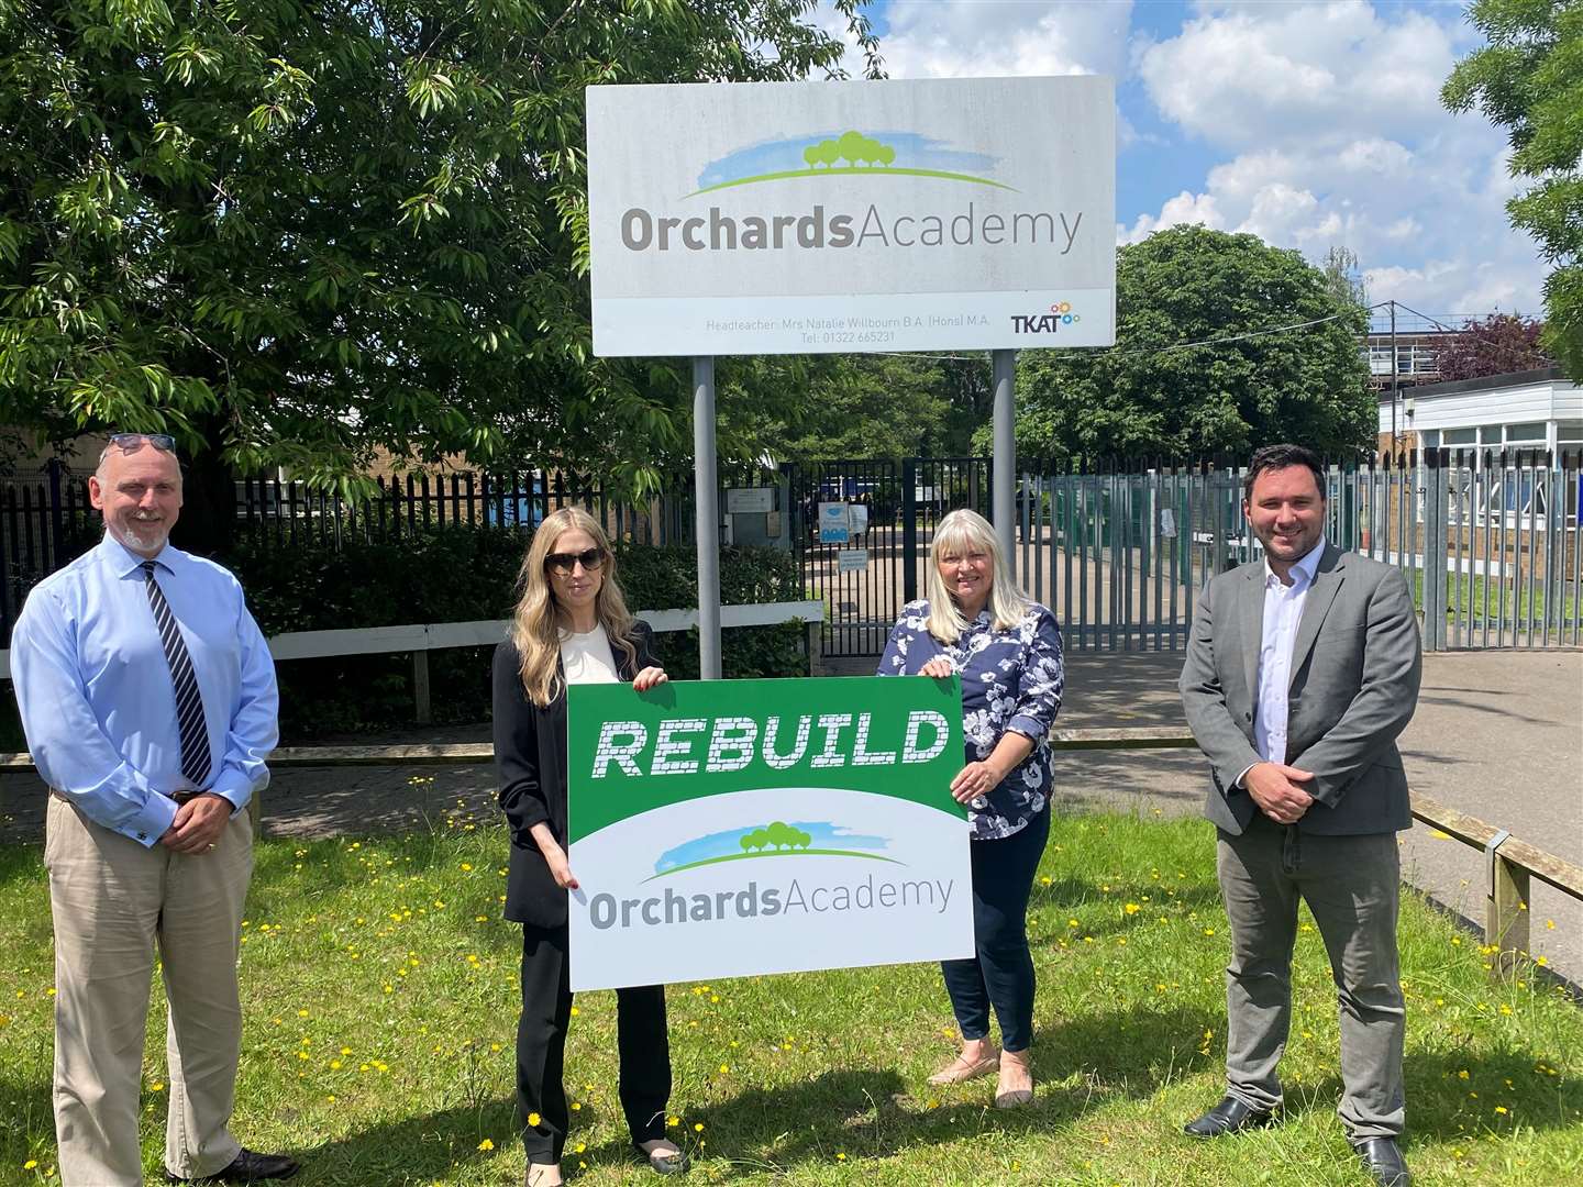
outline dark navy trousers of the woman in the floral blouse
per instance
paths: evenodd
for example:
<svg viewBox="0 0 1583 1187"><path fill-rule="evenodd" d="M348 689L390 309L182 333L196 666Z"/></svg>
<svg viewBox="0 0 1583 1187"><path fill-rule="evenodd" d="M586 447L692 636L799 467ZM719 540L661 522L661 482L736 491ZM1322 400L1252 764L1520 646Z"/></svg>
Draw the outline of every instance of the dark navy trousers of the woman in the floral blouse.
<svg viewBox="0 0 1583 1187"><path fill-rule="evenodd" d="M989 1033L989 1007L1000 1021L1000 1046L1026 1051L1034 1041L1034 958L1027 951L1027 896L1050 839L1050 809L1002 840L972 842L974 945L966 961L942 961L945 991L962 1038Z"/></svg>

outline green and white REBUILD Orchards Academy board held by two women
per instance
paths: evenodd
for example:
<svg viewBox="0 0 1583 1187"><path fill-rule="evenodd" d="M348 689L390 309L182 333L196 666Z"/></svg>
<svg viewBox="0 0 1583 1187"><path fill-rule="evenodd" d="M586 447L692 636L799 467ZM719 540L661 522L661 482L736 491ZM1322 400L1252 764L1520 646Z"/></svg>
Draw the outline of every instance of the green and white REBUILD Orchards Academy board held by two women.
<svg viewBox="0 0 1583 1187"><path fill-rule="evenodd" d="M571 989L970 956L961 684L578 685Z"/></svg>

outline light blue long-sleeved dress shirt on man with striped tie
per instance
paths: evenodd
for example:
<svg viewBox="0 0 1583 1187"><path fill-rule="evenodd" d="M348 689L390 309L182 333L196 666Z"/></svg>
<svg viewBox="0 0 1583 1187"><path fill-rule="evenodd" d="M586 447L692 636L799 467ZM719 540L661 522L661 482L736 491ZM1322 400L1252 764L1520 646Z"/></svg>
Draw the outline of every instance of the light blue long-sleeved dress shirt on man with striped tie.
<svg viewBox="0 0 1583 1187"><path fill-rule="evenodd" d="M234 812L269 783L279 739L275 665L230 571L169 544L154 559L203 695L214 779L182 776L176 688L149 606L142 557L104 535L33 587L11 631L22 730L44 780L90 820L154 845L179 791Z"/></svg>

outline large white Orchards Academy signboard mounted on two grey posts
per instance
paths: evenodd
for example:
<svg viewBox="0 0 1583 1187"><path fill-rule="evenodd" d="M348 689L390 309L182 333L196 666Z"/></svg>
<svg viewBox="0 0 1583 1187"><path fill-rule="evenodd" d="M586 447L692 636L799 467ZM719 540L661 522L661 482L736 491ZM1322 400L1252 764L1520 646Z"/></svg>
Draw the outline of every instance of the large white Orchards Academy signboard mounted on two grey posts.
<svg viewBox="0 0 1583 1187"><path fill-rule="evenodd" d="M1114 342L1107 78L587 89L595 355Z"/></svg>

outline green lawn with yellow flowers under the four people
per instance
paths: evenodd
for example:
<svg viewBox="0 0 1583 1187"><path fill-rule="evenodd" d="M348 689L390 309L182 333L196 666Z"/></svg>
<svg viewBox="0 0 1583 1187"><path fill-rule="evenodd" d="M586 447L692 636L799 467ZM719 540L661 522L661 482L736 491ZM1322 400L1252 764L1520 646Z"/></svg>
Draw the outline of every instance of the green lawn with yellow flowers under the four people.
<svg viewBox="0 0 1583 1187"><path fill-rule="evenodd" d="M236 1128L253 1147L301 1154L298 1182L521 1182L519 932L499 918L503 855L494 821L462 815L402 837L260 847ZM993 1081L926 1086L955 1049L932 965L673 986L673 1132L695 1152L690 1182L1366 1182L1333 1113L1336 1002L1311 926L1295 967L1287 1124L1217 1143L1179 1135L1222 1086L1228 934L1208 825L1057 818L1031 924L1038 1097L1018 1113L988 1108ZM1417 899L1404 902L1401 946L1418 1181L1583 1181L1583 1011L1531 969L1490 984L1477 939ZM0 1182L49 1181L51 939L36 845L0 848ZM161 1038L155 1013L150 1182ZM614 995L579 997L567 1170L586 1184L652 1181L625 1155L614 1051ZM30 1159L38 1166L24 1171Z"/></svg>

